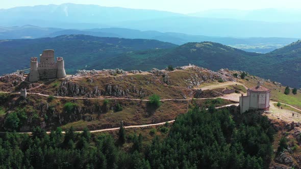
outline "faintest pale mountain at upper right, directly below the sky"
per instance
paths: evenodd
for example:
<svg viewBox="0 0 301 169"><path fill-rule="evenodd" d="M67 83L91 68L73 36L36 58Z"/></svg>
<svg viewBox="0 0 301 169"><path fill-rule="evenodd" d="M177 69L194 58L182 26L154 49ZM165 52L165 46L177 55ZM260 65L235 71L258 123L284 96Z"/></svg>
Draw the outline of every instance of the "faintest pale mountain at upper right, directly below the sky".
<svg viewBox="0 0 301 169"><path fill-rule="evenodd" d="M239 20L258 20L268 22L300 22L300 9L214 9L188 14L189 16L209 18L230 18Z"/></svg>

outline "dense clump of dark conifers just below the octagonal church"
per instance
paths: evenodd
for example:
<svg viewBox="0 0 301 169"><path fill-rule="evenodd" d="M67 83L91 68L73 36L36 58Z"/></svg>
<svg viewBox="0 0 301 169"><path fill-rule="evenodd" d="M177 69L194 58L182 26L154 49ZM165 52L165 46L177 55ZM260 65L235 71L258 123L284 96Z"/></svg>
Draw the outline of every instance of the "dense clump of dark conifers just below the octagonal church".
<svg viewBox="0 0 301 169"><path fill-rule="evenodd" d="M266 117L245 115L235 123L227 110L194 108L177 118L168 138L147 153L152 168L264 168L273 129Z"/></svg>

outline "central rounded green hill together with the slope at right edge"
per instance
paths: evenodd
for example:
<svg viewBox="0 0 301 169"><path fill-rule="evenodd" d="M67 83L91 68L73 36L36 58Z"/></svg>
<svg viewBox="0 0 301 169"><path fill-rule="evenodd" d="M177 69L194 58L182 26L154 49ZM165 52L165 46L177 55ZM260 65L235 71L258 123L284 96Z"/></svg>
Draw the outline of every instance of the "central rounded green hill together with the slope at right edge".
<svg viewBox="0 0 301 169"><path fill-rule="evenodd" d="M171 49L135 51L95 62L101 67L148 70L194 64L211 70L243 70L284 85L301 88L301 41L267 54L246 52L213 42L186 43Z"/></svg>

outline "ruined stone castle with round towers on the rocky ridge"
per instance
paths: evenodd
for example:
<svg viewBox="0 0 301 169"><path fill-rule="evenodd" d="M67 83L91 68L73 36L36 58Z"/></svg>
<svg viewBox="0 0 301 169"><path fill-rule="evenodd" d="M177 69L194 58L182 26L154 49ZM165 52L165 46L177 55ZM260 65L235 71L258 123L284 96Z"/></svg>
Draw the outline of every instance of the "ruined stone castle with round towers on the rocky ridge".
<svg viewBox="0 0 301 169"><path fill-rule="evenodd" d="M63 58L57 58L55 62L54 50L47 49L40 54L40 63L38 58L33 57L30 60L29 81L34 82L40 79L63 78L66 77Z"/></svg>

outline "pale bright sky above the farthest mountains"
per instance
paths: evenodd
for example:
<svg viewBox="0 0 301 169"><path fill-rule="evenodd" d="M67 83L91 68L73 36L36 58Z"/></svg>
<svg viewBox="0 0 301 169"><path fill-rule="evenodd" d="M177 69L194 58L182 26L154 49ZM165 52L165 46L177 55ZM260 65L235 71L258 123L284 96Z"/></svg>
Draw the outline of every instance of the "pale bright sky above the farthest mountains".
<svg viewBox="0 0 301 169"><path fill-rule="evenodd" d="M254 10L264 8L301 9L300 0L0 0L0 8L48 4L94 4L105 7L154 9L176 13L194 13L211 9Z"/></svg>

